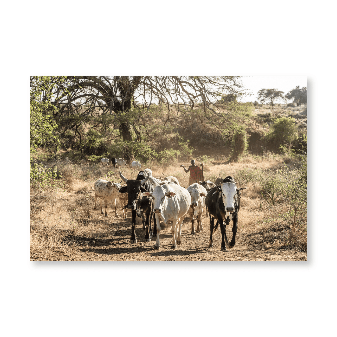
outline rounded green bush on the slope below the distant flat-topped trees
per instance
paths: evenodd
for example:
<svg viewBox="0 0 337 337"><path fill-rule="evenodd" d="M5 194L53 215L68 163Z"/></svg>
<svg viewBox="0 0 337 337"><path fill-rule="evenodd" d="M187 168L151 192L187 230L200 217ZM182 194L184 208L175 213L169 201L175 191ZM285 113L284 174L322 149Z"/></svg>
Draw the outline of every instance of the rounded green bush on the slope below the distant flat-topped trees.
<svg viewBox="0 0 337 337"><path fill-rule="evenodd" d="M286 146L291 149L293 142L298 139L298 130L293 117L281 117L270 126L270 131L263 137L263 140L270 148L279 149Z"/></svg>

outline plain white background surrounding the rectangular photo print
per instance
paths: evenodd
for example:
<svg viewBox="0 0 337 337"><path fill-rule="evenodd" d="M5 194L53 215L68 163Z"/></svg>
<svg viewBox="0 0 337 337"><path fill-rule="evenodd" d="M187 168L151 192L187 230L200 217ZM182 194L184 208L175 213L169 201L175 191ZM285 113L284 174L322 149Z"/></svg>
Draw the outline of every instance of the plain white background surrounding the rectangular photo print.
<svg viewBox="0 0 337 337"><path fill-rule="evenodd" d="M4 336L332 335L334 6L328 1L4 3ZM29 75L148 73L308 77L307 262L29 261Z"/></svg>

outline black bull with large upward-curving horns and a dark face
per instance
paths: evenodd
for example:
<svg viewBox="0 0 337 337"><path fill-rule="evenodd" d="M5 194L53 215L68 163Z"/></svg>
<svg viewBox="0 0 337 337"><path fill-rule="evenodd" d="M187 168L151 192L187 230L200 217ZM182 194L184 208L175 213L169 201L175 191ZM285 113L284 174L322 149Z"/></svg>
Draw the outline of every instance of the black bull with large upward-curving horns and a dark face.
<svg viewBox="0 0 337 337"><path fill-rule="evenodd" d="M154 238L157 237L157 226L156 219L154 220L154 229L152 233L152 215L153 215L153 205L152 198L147 198L143 196L144 192L153 192L153 189L159 185L160 181L153 178L150 175L147 175L145 178L144 171L141 170L137 175L136 180L126 179L121 171L119 171L120 177L126 182L126 186L123 186L119 189L120 193L128 192L128 203L123 208L128 208L131 210L132 218L132 234L130 243L137 243L136 233L134 231L136 225L136 215L142 218L143 222L143 230L146 230L145 241L151 241L151 236ZM144 218L144 213L146 215L146 219ZM149 224L150 222L150 224Z"/></svg>

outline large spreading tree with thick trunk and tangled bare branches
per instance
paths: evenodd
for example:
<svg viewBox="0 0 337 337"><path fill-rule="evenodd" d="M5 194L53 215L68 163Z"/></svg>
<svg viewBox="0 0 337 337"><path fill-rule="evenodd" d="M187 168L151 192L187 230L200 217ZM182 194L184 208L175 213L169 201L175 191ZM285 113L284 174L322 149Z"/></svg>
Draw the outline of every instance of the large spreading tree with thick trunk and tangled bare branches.
<svg viewBox="0 0 337 337"><path fill-rule="evenodd" d="M80 139L80 148L80 128L86 123L94 121L92 127L102 126L104 130L118 129L124 141L140 142L133 110L149 109L154 103L164 104L169 121L177 118L172 106L179 115L193 110L198 102L205 115L208 110L222 116L221 97L225 94L240 97L245 93L240 76L65 76L64 83L58 79L54 83L52 104L57 110L51 113L62 129L60 136L73 130Z"/></svg>

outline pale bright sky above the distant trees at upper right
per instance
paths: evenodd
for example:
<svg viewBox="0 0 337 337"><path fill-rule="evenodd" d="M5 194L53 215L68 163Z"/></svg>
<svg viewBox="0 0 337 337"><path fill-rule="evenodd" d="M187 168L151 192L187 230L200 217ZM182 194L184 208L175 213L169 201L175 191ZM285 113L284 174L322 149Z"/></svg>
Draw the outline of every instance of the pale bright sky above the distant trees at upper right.
<svg viewBox="0 0 337 337"><path fill-rule="evenodd" d="M241 78L242 83L252 92L251 96L245 96L239 99L242 102L254 102L257 100L257 92L261 89L278 89L284 92L284 95L297 87L307 86L307 76L246 76ZM284 100L276 101L276 103L284 103ZM289 101L288 101L289 102Z"/></svg>

